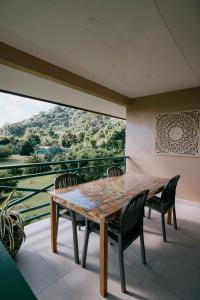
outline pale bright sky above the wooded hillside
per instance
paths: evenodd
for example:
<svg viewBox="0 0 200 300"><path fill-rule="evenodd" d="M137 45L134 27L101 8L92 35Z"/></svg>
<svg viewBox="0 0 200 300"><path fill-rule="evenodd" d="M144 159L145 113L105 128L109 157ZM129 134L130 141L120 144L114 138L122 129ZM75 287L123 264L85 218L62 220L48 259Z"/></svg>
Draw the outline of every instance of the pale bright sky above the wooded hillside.
<svg viewBox="0 0 200 300"><path fill-rule="evenodd" d="M47 111L55 105L0 92L0 127L29 119L40 111Z"/></svg>

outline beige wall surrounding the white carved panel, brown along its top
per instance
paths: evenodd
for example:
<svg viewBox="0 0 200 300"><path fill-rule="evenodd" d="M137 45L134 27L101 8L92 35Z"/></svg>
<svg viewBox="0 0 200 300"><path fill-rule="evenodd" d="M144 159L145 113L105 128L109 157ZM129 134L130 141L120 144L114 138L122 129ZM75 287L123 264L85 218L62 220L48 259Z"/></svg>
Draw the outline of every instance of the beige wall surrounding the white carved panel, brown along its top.
<svg viewBox="0 0 200 300"><path fill-rule="evenodd" d="M200 109L200 88L143 97L127 109L128 171L170 178L181 175L177 197L200 202L200 157L156 155L157 113Z"/></svg>

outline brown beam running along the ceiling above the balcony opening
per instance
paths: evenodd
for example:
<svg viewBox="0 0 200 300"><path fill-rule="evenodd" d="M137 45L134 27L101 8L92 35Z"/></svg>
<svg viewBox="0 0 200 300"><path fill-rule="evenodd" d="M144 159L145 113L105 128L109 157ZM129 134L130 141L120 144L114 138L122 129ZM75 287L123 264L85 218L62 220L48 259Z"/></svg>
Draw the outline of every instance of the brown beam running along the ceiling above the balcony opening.
<svg viewBox="0 0 200 300"><path fill-rule="evenodd" d="M129 97L103 85L2 42L0 42L0 63L109 100L116 104L127 105L130 100Z"/></svg>

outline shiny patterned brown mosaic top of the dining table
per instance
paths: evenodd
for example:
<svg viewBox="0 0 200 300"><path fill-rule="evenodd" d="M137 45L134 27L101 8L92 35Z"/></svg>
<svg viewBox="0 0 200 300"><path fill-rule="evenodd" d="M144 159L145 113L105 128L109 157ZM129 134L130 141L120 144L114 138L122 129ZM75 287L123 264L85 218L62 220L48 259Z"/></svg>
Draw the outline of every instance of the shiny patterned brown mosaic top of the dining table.
<svg viewBox="0 0 200 300"><path fill-rule="evenodd" d="M160 192L169 179L127 173L82 183L49 192L57 203L97 222L111 220L127 200L143 190L150 190L149 197Z"/></svg>

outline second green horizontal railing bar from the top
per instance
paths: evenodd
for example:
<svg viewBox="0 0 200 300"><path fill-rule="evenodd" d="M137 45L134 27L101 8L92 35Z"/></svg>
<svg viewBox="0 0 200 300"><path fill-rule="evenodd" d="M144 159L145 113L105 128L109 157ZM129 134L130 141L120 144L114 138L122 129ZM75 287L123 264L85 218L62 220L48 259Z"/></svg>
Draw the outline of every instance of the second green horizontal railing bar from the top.
<svg viewBox="0 0 200 300"><path fill-rule="evenodd" d="M116 163L119 164L120 162ZM110 166L110 164L106 165L97 165L97 166L90 166L90 167L82 167L82 168L72 168L72 169L66 169L66 170L57 170L57 171L50 171L50 172L42 172L42 173L35 173L35 174L29 174L29 175L18 175L18 176L9 176L9 177L0 177L0 181L6 181L6 180L22 180L26 178L33 178L33 177L40 177L40 176L46 176L46 175L53 175L53 174L60 174L65 172L80 172L82 170L89 170L89 169L95 169L95 168L105 168ZM0 186L1 187L1 186Z"/></svg>

